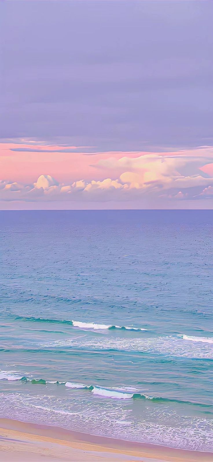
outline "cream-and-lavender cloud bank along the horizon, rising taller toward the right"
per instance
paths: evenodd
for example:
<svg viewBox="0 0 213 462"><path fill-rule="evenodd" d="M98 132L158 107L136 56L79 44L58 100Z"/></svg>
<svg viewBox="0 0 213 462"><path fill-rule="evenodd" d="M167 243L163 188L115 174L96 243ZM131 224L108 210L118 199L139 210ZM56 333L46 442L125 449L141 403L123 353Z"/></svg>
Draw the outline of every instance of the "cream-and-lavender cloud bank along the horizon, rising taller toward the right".
<svg viewBox="0 0 213 462"><path fill-rule="evenodd" d="M89 174L94 172L95 179L80 177L80 171L76 180L70 183L49 174L41 174L34 182L2 179L0 201L74 201L85 205L109 201L113 208L114 202L138 204L145 198L162 207L171 201L201 200L208 201L211 207L211 146L173 153L99 153L93 159L95 163L90 164Z"/></svg>

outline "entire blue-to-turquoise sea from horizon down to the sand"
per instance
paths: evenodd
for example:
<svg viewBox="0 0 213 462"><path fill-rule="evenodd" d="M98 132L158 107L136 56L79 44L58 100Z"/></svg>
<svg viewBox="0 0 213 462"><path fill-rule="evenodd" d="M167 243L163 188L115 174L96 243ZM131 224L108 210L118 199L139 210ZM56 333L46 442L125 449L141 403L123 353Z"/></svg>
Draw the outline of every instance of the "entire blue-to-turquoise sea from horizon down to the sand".
<svg viewBox="0 0 213 462"><path fill-rule="evenodd" d="M212 211L0 212L0 416L213 450L212 233Z"/></svg>

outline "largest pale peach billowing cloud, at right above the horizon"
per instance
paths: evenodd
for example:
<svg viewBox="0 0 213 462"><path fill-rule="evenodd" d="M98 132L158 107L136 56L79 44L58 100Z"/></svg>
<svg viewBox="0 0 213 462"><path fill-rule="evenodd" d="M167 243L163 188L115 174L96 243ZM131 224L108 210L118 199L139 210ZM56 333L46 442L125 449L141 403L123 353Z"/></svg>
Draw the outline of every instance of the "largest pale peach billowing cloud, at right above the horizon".
<svg viewBox="0 0 213 462"><path fill-rule="evenodd" d="M144 153L138 157L101 159L98 166L120 172L120 180L131 188L192 188L209 184L201 169L213 163L213 148L191 151ZM123 170L123 172L121 171Z"/></svg>

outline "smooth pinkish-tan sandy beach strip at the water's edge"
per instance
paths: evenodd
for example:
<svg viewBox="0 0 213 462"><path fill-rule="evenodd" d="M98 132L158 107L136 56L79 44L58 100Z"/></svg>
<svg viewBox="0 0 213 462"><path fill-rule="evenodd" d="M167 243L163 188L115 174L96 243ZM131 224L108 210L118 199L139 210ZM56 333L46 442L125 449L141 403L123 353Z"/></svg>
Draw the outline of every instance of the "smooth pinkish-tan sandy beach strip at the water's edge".
<svg viewBox="0 0 213 462"><path fill-rule="evenodd" d="M10 458L11 457L11 458ZM36 457L36 458L35 458ZM0 459L42 461L203 461L213 452L175 449L151 443L90 435L48 426L0 418Z"/></svg>

